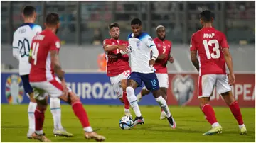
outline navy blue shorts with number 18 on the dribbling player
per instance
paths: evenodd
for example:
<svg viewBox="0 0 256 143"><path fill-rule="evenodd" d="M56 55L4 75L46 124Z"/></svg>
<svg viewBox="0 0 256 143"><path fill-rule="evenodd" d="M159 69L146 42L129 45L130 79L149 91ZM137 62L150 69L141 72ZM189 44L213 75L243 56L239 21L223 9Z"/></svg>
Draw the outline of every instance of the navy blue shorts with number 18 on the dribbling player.
<svg viewBox="0 0 256 143"><path fill-rule="evenodd" d="M142 81L144 82L146 88L149 91L157 91L159 90L159 81L156 77L156 73L150 74L142 74L139 72L132 72L132 74L128 77L128 79L132 79L142 86Z"/></svg>

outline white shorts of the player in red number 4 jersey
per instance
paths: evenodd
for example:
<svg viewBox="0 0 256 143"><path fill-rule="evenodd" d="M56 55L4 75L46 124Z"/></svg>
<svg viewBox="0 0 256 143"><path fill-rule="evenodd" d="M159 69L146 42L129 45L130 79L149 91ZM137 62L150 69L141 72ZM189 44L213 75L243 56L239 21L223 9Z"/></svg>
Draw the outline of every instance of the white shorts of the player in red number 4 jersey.
<svg viewBox="0 0 256 143"><path fill-rule="evenodd" d="M30 82L30 84L33 87L34 98L38 100L43 100L48 95L53 98L63 95L63 86L58 77L52 81ZM71 92L70 88L68 88L68 92Z"/></svg>

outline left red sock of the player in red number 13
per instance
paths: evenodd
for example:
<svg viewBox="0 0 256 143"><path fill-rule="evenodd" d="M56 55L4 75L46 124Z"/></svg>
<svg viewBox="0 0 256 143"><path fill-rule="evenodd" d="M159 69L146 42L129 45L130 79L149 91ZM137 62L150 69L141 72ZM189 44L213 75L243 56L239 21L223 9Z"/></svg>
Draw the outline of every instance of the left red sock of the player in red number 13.
<svg viewBox="0 0 256 143"><path fill-rule="evenodd" d="M203 105L201 109L206 116L206 120L210 123L210 125L213 125L213 123L217 122L217 119L215 117L214 110L210 104Z"/></svg>

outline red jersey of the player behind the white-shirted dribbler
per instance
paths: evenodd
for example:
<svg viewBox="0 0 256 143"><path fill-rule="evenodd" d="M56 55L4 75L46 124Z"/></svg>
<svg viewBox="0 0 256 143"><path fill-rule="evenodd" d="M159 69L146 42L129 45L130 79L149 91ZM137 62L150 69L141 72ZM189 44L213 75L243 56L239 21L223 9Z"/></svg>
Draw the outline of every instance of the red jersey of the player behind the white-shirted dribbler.
<svg viewBox="0 0 256 143"><path fill-rule="evenodd" d="M154 38L154 43L156 44L157 50L159 50L159 55L165 54L165 59L156 59L156 63L154 64L154 68L156 69L156 73L166 74L167 67L166 64L168 62L168 57L171 52L171 41L169 40L160 40L159 38Z"/></svg>

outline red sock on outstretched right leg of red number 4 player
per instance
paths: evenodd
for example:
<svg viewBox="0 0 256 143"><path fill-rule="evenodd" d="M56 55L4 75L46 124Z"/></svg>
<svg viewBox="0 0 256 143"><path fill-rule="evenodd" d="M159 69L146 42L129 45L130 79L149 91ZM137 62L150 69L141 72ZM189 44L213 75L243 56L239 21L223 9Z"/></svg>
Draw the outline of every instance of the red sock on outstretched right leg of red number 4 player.
<svg viewBox="0 0 256 143"><path fill-rule="evenodd" d="M82 127L89 127L90 126L89 119L85 109L82 107L82 103L80 101L77 101L72 104L72 108L75 115L80 120Z"/></svg>

